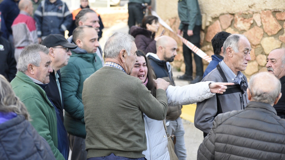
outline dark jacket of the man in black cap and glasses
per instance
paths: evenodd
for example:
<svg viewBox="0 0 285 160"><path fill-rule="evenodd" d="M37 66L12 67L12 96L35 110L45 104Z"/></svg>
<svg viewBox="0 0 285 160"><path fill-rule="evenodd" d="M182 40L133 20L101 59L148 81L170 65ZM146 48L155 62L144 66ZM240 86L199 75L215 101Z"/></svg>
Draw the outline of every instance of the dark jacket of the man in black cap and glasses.
<svg viewBox="0 0 285 160"><path fill-rule="evenodd" d="M50 73L50 83L48 83L48 85L46 86L46 88L44 89L44 91L46 91L46 95L48 96L48 98L50 98L50 100L53 102L53 104L56 106L56 108L59 111L59 115L60 115L60 119L63 122L63 93L62 93L62 85L61 85L61 74L60 74L60 70L57 71L57 74L59 75L59 85L60 85L60 89L61 91L58 91L58 87L56 84L56 78L55 78L55 73L54 71L52 73ZM61 92L62 95L62 101L60 99L60 94L59 92Z"/></svg>

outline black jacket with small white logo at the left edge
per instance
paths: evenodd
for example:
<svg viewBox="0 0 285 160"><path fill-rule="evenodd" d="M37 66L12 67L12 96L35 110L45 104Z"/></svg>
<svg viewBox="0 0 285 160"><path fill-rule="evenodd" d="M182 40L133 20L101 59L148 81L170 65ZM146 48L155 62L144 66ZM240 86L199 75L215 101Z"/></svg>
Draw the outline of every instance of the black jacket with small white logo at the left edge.
<svg viewBox="0 0 285 160"><path fill-rule="evenodd" d="M1 36L1 33L0 33ZM2 36L0 37L0 74L11 82L17 73L16 60L12 44Z"/></svg>

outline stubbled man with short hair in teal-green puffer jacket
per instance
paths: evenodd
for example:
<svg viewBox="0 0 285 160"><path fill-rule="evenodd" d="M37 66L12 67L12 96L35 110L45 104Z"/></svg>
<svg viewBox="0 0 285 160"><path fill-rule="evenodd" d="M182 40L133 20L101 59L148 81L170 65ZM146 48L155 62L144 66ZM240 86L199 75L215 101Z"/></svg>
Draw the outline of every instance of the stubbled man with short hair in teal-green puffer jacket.
<svg viewBox="0 0 285 160"><path fill-rule="evenodd" d="M77 27L73 31L72 40L72 44L78 47L71 50L68 65L60 69L65 110L64 126L69 134L71 159L82 160L87 156L82 103L83 82L102 67L102 62L96 54L99 43L95 28L85 25Z"/></svg>

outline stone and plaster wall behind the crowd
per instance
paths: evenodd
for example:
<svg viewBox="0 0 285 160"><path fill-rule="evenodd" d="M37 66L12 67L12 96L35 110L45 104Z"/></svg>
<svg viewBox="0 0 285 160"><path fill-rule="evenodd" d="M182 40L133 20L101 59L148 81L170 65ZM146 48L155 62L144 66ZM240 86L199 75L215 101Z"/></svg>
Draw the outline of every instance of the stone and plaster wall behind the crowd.
<svg viewBox="0 0 285 160"><path fill-rule="evenodd" d="M156 11L161 18L166 21L170 27L177 32L180 20L177 14L177 2L172 1L170 6L168 0L156 1ZM164 4L163 8L158 8ZM215 5L213 5L215 4ZM168 6L167 6L168 5ZM249 78L254 73L266 71L266 58L269 52L275 48L285 47L285 1L245 1L240 0L199 0L202 13L202 30L201 30L201 50L209 56L213 55L211 39L217 32L226 31L229 33L244 34L251 43L251 61L243 73ZM221 6L221 7L215 7ZM169 12L165 8L170 7L176 11ZM173 17L171 14L173 13ZM160 27L160 33L164 27ZM185 71L182 55L182 41L178 36L165 29L165 35L174 37L178 42L178 55L173 67ZM194 61L193 61L194 64ZM203 60L204 70L208 62ZM196 71L193 67L194 73Z"/></svg>

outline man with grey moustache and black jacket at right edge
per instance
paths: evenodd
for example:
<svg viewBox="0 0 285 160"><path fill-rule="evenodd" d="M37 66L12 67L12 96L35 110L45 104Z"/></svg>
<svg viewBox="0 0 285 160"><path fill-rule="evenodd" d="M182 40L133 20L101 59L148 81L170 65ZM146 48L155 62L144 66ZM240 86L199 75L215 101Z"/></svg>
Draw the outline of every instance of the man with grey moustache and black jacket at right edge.
<svg viewBox="0 0 285 160"><path fill-rule="evenodd" d="M281 82L281 93L283 97L273 107L277 116L285 118L285 48L272 50L267 57L267 71L272 73Z"/></svg>

